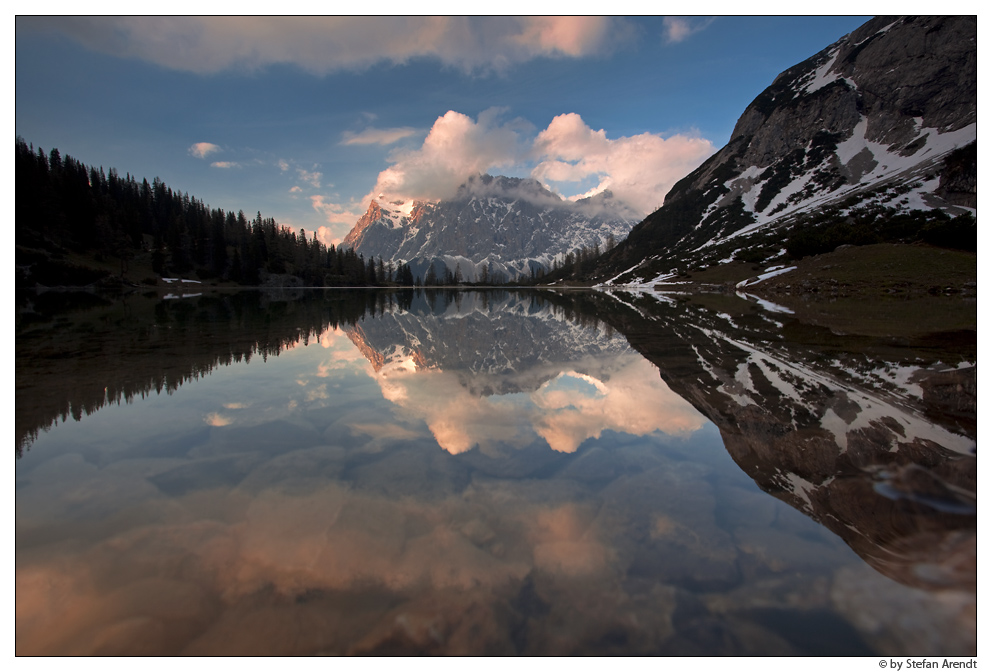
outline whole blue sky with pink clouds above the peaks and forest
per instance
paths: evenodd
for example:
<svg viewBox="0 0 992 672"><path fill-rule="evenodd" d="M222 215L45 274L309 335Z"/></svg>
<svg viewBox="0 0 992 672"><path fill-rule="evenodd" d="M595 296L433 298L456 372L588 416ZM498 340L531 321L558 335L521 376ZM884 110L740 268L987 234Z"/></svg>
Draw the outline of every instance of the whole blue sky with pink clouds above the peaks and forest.
<svg viewBox="0 0 992 672"><path fill-rule="evenodd" d="M16 133L328 243L481 171L646 213L867 19L19 17Z"/></svg>

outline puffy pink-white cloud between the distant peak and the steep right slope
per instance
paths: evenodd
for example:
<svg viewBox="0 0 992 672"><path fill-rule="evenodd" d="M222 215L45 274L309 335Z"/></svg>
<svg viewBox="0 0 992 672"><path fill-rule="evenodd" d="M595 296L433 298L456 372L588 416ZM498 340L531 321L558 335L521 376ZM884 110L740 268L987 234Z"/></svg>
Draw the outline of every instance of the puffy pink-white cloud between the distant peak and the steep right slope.
<svg viewBox="0 0 992 672"><path fill-rule="evenodd" d="M594 131L578 114L561 114L534 141L540 161L531 172L539 180L599 183L580 196L605 189L647 214L661 205L668 190L699 166L716 148L705 138L641 133L611 140Z"/></svg>

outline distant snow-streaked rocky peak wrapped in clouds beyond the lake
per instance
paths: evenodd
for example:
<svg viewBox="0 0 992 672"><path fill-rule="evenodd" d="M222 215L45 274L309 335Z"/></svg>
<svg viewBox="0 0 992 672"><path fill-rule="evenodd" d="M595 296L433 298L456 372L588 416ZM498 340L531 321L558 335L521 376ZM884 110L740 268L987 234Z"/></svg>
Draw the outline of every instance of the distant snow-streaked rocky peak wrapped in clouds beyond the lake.
<svg viewBox="0 0 992 672"><path fill-rule="evenodd" d="M444 264L465 280L529 276L556 257L605 249L640 217L609 191L566 201L531 179L479 175L450 199L390 202L381 196L342 243L366 257L410 263L424 277Z"/></svg>

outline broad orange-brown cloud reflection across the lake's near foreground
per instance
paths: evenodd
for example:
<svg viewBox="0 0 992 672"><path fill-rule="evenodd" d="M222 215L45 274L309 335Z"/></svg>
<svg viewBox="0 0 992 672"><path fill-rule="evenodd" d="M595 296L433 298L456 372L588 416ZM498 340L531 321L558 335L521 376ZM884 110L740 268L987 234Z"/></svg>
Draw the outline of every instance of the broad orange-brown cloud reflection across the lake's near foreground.
<svg viewBox="0 0 992 672"><path fill-rule="evenodd" d="M328 451L295 451L260 465L257 473L325 464L333 459ZM322 600L321 618L331 619L322 622L352 619L356 608L364 615L357 630L320 628L323 639L302 644L345 652L356 635L374 636L393 604L430 599L432 613L443 614L469 597L470 604L499 608L534 568L546 577L611 571L615 553L605 545L594 510L562 502L565 495L554 489L533 501L513 487L489 484L423 500L335 481L301 493L273 481L251 496L218 489L156 497L140 509L148 517L130 529L80 538L57 554L18 564L16 650L293 651L285 648L287 614L306 615L306 601L315 599ZM202 517L191 519L194 511ZM391 599L355 607L324 595L360 596L369 586ZM287 602L294 601L298 611L288 612ZM283 648L276 648L280 640Z"/></svg>

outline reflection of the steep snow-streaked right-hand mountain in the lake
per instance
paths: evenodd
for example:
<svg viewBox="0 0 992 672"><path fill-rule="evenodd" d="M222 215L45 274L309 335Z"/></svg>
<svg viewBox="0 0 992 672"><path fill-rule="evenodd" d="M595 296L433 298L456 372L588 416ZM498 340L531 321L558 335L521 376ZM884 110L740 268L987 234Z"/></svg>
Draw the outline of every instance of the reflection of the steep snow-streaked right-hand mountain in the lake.
<svg viewBox="0 0 992 672"><path fill-rule="evenodd" d="M974 591L974 362L883 339L852 350L779 314L617 297L556 301L607 319L716 423L762 489L875 569L911 586Z"/></svg>

